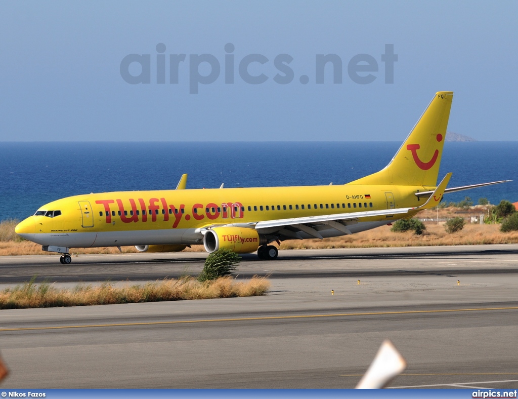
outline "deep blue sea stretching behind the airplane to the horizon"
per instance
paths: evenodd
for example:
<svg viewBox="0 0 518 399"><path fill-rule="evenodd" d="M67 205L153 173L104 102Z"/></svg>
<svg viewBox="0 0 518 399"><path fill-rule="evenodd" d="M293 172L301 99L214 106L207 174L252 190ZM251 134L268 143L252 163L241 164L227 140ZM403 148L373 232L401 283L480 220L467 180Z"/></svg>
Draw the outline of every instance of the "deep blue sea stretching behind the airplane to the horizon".
<svg viewBox="0 0 518 399"><path fill-rule="evenodd" d="M24 219L58 198L90 192L343 184L377 172L400 142L0 143L0 220ZM518 201L518 141L444 144L449 187L514 181L445 196Z"/></svg>

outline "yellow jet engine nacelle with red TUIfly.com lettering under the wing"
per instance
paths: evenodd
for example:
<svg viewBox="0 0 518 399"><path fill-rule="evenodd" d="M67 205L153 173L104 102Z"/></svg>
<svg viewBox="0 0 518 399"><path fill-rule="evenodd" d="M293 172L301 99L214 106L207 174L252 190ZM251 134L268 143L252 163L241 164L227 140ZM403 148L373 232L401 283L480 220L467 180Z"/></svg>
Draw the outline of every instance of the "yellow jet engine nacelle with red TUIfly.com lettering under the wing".
<svg viewBox="0 0 518 399"><path fill-rule="evenodd" d="M207 230L203 237L203 245L209 253L220 248L236 253L250 253L265 243L266 239L256 230L247 227L214 227Z"/></svg>

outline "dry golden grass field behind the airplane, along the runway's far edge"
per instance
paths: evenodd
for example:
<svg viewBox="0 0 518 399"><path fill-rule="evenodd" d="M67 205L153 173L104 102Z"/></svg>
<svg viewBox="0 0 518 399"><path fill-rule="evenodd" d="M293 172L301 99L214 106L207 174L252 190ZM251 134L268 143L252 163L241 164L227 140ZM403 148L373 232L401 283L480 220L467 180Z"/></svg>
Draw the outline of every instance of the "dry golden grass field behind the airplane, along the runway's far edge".
<svg viewBox="0 0 518 399"><path fill-rule="evenodd" d="M462 216L469 221L471 216L479 216L486 213L483 207L473 207L468 210L458 208L430 209L419 213L420 218L440 219ZM0 255L55 255L53 252L41 250L38 244L25 240L18 240L14 233L17 221L0 222ZM369 247L409 247L432 245L472 245L472 244L517 244L518 232L501 233L499 224L466 224L464 230L447 234L443 223L425 221L426 232L422 236L413 233L392 233L390 226L382 226L378 229L353 234L326 238L324 240L289 240L284 241L280 249L305 249L305 248L369 248ZM123 247L124 253L137 252L135 247ZM184 249L184 252L203 252L203 245L193 245ZM74 248L72 254L99 254L118 253L115 247L104 248Z"/></svg>

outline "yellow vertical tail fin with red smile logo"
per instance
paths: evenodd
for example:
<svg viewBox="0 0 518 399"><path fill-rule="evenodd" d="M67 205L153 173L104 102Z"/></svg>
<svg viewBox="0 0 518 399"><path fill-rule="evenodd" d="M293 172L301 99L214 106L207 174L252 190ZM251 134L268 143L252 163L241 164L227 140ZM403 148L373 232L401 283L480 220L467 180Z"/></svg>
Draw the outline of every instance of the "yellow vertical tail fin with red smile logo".
<svg viewBox="0 0 518 399"><path fill-rule="evenodd" d="M452 99L451 91L436 93L389 165L349 184L435 187Z"/></svg>

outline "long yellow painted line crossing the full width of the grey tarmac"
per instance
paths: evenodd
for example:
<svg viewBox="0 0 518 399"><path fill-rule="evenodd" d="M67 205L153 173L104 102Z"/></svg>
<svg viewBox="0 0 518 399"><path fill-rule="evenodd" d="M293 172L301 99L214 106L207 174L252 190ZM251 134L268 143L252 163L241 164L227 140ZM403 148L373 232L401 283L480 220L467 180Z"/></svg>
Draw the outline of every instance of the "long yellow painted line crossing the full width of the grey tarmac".
<svg viewBox="0 0 518 399"><path fill-rule="evenodd" d="M287 320L287 319L315 319L322 317L346 317L346 316L382 316L382 315L415 315L428 313L468 312L481 310L516 310L518 306L501 308L473 308L473 309L436 309L436 310L404 310L393 312L364 312L364 313L341 313L331 315L300 315L300 316L269 316L269 317L242 317L235 319L206 319L206 320L178 320L178 321L152 321L143 323L114 323L114 324L85 324L85 325L61 325L53 327L21 327L15 329L0 329L6 331L33 331L33 330L62 330L62 329L85 329L93 327L120 327L134 325L165 325L165 324L189 324L189 323L211 323L218 321L250 321L250 320Z"/></svg>

